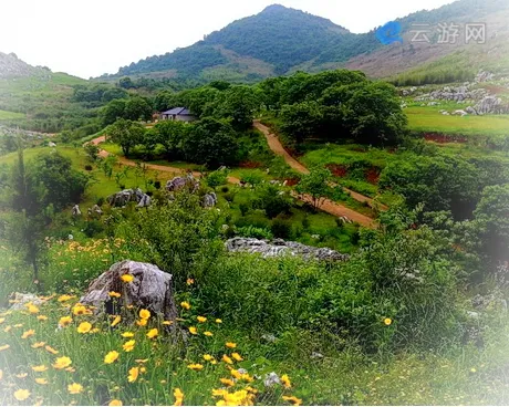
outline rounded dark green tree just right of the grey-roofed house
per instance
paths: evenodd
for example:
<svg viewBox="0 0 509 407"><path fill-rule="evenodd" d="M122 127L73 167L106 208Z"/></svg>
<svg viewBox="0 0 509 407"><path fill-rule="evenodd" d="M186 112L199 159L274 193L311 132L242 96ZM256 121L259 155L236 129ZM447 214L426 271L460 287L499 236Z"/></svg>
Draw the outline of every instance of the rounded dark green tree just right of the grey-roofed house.
<svg viewBox="0 0 509 407"><path fill-rule="evenodd" d="M191 125L183 150L188 160L214 168L236 161L238 142L230 124L206 117Z"/></svg>

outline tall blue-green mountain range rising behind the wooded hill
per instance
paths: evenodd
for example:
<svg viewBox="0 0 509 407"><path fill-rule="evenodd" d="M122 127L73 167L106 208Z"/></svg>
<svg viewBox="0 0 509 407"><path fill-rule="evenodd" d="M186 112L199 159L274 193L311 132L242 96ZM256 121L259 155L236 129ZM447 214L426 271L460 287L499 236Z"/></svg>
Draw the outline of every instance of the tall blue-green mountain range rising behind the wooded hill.
<svg viewBox="0 0 509 407"><path fill-rule="evenodd" d="M190 46L149 56L103 77L144 75L256 81L297 70L320 72L343 66L362 70L370 76L387 77L458 52L471 55L478 67L490 63L496 66L500 62L500 50L506 50L509 39L508 20L507 0L459 0L397 19L404 42L383 45L376 39L376 29L354 34L328 19L273 4ZM490 41L484 48L466 45L459 38L455 44L438 43L438 24L444 22L461 28L469 22L486 23ZM411 41L416 23L428 25L430 43ZM468 61L465 65L469 66ZM503 64L499 65L505 70Z"/></svg>

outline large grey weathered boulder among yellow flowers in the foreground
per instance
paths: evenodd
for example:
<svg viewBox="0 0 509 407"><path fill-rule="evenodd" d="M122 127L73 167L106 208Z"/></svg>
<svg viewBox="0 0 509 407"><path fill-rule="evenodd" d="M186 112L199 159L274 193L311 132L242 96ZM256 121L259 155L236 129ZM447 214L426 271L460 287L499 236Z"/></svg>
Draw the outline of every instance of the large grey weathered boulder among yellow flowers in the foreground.
<svg viewBox="0 0 509 407"><path fill-rule="evenodd" d="M121 280L129 274L132 282ZM108 271L95 279L80 299L80 303L92 305L95 312L118 313L124 306L146 309L165 320L175 321L177 309L172 289L173 276L157 265L124 260L113 264ZM110 292L121 294L113 303ZM120 310L116 310L118 307Z"/></svg>

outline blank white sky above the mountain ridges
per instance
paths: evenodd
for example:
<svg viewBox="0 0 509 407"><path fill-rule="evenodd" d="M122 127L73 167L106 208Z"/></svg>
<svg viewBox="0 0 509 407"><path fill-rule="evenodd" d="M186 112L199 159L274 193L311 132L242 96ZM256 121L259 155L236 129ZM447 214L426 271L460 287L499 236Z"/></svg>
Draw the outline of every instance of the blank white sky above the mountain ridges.
<svg viewBox="0 0 509 407"><path fill-rule="evenodd" d="M367 32L451 0L0 0L0 52L89 79L202 40L279 3Z"/></svg>

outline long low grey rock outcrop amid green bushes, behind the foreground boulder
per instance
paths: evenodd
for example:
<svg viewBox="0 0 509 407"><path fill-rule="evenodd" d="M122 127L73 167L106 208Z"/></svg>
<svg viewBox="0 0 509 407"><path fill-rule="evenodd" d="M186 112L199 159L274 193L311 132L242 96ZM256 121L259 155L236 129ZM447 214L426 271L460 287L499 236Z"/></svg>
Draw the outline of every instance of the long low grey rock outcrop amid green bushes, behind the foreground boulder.
<svg viewBox="0 0 509 407"><path fill-rule="evenodd" d="M279 255L302 255L304 259L346 261L347 254L342 254L329 248L314 248L298 242L274 239L271 242L252 238L233 238L225 243L230 252L260 253L264 258Z"/></svg>

